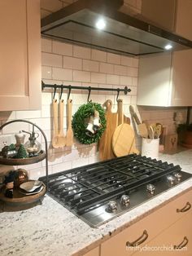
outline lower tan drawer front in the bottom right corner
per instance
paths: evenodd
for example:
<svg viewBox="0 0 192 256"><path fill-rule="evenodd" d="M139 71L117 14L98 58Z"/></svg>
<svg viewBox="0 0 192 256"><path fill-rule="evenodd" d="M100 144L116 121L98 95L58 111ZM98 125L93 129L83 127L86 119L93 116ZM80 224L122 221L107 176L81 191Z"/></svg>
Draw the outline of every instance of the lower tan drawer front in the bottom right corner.
<svg viewBox="0 0 192 256"><path fill-rule="evenodd" d="M184 248L175 249L182 245ZM156 236L144 247L138 247L135 256L191 256L192 255L192 214L178 220L166 231Z"/></svg>

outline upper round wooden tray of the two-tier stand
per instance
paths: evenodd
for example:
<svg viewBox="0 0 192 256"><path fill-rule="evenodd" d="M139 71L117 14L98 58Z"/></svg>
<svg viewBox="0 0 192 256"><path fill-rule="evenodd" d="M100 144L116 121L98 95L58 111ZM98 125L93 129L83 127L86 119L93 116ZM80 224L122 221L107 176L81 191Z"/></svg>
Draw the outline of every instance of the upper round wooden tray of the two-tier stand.
<svg viewBox="0 0 192 256"><path fill-rule="evenodd" d="M6 166L25 166L37 163L46 158L46 153L41 150L37 157L28 157L28 158L3 158L0 157L0 164Z"/></svg>

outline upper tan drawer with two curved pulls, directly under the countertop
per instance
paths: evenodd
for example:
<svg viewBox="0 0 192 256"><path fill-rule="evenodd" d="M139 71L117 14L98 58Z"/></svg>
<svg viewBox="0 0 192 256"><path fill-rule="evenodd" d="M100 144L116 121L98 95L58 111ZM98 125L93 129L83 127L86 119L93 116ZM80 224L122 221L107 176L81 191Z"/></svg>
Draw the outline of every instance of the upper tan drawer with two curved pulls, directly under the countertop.
<svg viewBox="0 0 192 256"><path fill-rule="evenodd" d="M148 203L150 203L150 201ZM126 246L127 242L137 241L140 237L139 241L143 241L142 245L145 245L160 232L163 232L171 226L172 223L177 222L178 219L192 212L192 208L190 208L191 205L192 191L186 192L184 195L171 201L168 205L163 206L145 218L142 218L142 220L134 223L116 236L112 236L108 241L102 244L101 255L116 256L117 252L120 253L120 256L134 254L135 250L128 248L128 246Z"/></svg>

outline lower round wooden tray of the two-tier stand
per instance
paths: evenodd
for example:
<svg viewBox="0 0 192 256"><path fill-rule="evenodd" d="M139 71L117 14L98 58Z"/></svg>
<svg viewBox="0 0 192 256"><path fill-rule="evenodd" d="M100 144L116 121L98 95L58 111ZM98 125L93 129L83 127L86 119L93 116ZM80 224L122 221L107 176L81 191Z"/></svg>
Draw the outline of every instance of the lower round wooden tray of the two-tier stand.
<svg viewBox="0 0 192 256"><path fill-rule="evenodd" d="M43 189L41 192L33 195L24 195L20 192L19 188L13 189L13 198L8 198L4 196L5 187L1 189L0 191L0 201L3 201L6 205L11 206L22 206L22 205L28 205L33 204L36 201L41 201L41 197L43 197L46 194L46 185L42 183Z"/></svg>

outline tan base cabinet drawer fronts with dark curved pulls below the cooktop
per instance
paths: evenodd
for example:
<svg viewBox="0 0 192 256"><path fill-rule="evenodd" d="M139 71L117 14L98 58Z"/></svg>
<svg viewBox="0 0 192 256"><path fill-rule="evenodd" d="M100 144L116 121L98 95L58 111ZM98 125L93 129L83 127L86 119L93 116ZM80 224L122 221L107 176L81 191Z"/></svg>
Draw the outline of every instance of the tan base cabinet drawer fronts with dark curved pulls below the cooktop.
<svg viewBox="0 0 192 256"><path fill-rule="evenodd" d="M112 236L101 245L101 256L153 255L142 254L140 248L145 245L179 245L186 236L188 254L192 255L192 191L156 210L146 218L133 224L124 231ZM181 211L179 211L181 210ZM129 246L135 242L135 246ZM141 243L139 245L139 243ZM139 247L137 247L139 245ZM174 252L174 251L173 251ZM159 253L159 252L157 252ZM164 255L164 254L157 254ZM171 255L171 254L170 254ZM174 255L174 254L172 254ZM185 255L185 254L180 254Z"/></svg>

